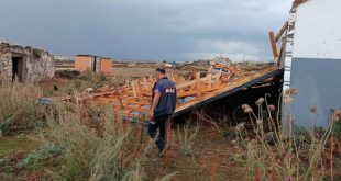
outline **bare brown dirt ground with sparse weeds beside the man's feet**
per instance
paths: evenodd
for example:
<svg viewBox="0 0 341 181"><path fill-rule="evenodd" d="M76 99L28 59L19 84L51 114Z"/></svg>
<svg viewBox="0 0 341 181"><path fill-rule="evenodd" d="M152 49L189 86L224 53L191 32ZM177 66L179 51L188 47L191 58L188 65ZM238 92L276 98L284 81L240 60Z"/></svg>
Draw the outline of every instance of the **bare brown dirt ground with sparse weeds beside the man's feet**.
<svg viewBox="0 0 341 181"><path fill-rule="evenodd" d="M175 145L178 143L175 140ZM143 162L146 180L170 173L176 173L175 181L246 180L244 168L233 159L238 155L234 146L202 131L195 138L191 155L184 154L178 146L167 150L166 155L163 159L152 156Z"/></svg>

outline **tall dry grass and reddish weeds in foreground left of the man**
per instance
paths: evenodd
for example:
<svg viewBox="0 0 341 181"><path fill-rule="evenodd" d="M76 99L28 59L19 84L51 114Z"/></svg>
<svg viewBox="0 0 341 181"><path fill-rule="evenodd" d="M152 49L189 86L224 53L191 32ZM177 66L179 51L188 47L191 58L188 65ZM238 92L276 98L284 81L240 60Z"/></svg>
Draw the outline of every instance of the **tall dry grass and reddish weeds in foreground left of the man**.
<svg viewBox="0 0 341 181"><path fill-rule="evenodd" d="M55 180L140 181L145 180L146 151L152 143L141 146L145 151L130 159L136 142L133 126L119 121L111 108L85 108L61 103L46 113L45 143L58 145L63 151L57 167L48 171ZM91 111L92 110L92 111ZM98 122L101 126L94 126ZM169 176L168 176L169 177Z"/></svg>

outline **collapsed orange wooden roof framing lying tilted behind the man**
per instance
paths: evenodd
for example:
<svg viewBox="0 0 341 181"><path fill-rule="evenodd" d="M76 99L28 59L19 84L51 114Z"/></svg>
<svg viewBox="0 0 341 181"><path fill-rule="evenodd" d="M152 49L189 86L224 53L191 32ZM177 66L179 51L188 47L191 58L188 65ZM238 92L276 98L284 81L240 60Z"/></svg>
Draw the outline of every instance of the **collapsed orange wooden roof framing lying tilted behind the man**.
<svg viewBox="0 0 341 181"><path fill-rule="evenodd" d="M218 69L218 72L216 71L217 73L213 73L213 69ZM212 65L205 77L201 77L199 72L194 72L193 78L186 80L178 75L168 75L168 78L176 82L178 92L178 104L175 115L227 97L280 72L274 65L250 71L229 61L228 65ZM81 94L78 98L68 97L62 100L76 100L77 103L110 105L116 112L120 112L125 120L140 120L150 110L152 101L151 90L155 81L155 78L146 77L130 81L120 88L112 86L106 92Z"/></svg>

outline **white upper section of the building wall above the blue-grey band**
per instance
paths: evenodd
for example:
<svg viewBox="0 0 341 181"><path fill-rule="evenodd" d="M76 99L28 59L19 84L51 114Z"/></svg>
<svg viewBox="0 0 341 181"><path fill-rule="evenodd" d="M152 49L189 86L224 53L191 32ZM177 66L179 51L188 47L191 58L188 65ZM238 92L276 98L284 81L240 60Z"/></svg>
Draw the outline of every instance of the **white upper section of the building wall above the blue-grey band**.
<svg viewBox="0 0 341 181"><path fill-rule="evenodd" d="M293 57L341 58L341 0L310 0L297 8Z"/></svg>

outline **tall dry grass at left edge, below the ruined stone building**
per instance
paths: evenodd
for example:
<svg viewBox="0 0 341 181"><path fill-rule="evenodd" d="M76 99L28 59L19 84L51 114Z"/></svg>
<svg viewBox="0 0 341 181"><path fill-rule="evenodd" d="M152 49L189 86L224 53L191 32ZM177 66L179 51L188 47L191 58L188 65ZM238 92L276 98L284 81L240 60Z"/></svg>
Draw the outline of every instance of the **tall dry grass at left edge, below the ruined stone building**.
<svg viewBox="0 0 341 181"><path fill-rule="evenodd" d="M3 81L0 86L0 132L9 134L13 129L25 129L42 120L35 99L42 95L33 83Z"/></svg>

